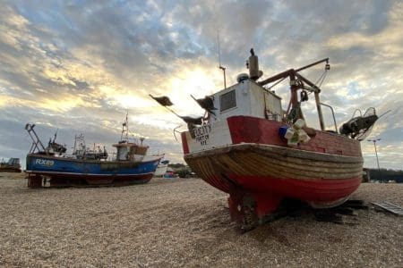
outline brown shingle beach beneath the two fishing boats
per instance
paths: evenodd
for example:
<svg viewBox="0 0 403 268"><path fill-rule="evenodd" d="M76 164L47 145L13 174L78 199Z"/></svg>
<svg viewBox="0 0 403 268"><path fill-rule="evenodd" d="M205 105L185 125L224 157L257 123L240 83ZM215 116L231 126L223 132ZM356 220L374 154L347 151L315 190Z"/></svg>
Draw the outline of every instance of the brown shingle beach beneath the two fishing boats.
<svg viewBox="0 0 403 268"><path fill-rule="evenodd" d="M116 188L26 188L0 173L0 266L403 267L403 217L357 210L355 225L283 217L241 233L227 195L199 179ZM363 184L403 205L403 184Z"/></svg>

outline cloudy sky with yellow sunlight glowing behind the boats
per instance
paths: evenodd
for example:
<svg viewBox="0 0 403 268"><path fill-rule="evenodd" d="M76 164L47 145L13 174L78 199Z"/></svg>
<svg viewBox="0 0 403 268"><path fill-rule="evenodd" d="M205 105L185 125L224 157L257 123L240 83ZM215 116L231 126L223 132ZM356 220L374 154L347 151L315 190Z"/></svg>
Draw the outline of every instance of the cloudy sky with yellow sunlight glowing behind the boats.
<svg viewBox="0 0 403 268"><path fill-rule="evenodd" d="M338 125L356 109L391 110L367 139L381 138L381 168L403 169L402 1L0 4L0 158L24 163L28 122L45 143L57 130L56 141L71 150L74 135L84 133L88 145L112 151L128 112L131 137L145 137L150 153L184 163L173 132L185 130L184 122L149 94L169 96L177 113L202 115L190 95L223 88L219 59L227 86L236 83L253 47L262 79L329 57L322 102L334 108ZM303 74L316 81L322 68ZM275 89L287 100L287 83ZM308 124L318 127L313 110L313 102L303 105ZM323 111L331 130L331 114ZM376 168L373 142L361 146L364 167Z"/></svg>

